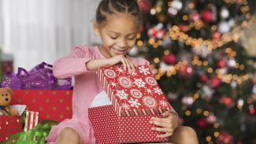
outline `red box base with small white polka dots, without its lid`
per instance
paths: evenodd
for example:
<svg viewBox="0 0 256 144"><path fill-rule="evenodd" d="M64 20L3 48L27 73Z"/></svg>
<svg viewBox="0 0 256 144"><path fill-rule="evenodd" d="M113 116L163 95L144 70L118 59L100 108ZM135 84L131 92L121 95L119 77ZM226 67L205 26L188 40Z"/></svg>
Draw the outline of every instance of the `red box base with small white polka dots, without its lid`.
<svg viewBox="0 0 256 144"><path fill-rule="evenodd" d="M168 138L157 138L161 132L151 130L151 127L155 127L149 123L151 117L117 116L113 105L89 109L96 143L167 142Z"/></svg>

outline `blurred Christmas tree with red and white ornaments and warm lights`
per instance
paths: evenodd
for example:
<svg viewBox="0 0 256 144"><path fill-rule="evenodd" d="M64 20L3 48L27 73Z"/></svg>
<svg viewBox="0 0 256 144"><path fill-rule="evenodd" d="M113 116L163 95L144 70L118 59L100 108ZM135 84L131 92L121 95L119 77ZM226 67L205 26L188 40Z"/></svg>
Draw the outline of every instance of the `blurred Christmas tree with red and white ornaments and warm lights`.
<svg viewBox="0 0 256 144"><path fill-rule="evenodd" d="M246 0L139 0L137 46L200 143L255 143L254 58L239 41L254 20Z"/></svg>

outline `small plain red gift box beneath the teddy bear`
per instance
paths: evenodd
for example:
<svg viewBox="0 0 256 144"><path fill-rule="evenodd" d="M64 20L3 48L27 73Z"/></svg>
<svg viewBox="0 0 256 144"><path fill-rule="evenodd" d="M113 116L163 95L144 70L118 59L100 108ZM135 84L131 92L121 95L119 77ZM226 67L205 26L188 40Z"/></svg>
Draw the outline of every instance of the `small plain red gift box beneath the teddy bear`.
<svg viewBox="0 0 256 144"><path fill-rule="evenodd" d="M0 142L22 131L21 116L0 116Z"/></svg>

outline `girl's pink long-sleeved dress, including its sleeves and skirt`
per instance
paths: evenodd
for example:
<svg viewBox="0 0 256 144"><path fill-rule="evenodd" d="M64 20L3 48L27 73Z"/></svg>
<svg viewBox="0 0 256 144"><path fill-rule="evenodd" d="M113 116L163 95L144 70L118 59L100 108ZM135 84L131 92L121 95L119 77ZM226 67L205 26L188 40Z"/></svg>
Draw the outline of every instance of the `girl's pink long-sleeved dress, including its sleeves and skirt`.
<svg viewBox="0 0 256 144"><path fill-rule="evenodd" d="M72 119L67 119L54 126L46 138L48 144L55 143L58 134L65 127L72 127L80 135L83 144L94 144L95 135L88 119L88 108L95 96L103 90L95 71L88 71L87 61L106 58L98 50L98 46L76 46L67 57L62 57L54 63L54 76L64 79L75 76L72 95ZM128 57L135 65L149 65L143 58Z"/></svg>

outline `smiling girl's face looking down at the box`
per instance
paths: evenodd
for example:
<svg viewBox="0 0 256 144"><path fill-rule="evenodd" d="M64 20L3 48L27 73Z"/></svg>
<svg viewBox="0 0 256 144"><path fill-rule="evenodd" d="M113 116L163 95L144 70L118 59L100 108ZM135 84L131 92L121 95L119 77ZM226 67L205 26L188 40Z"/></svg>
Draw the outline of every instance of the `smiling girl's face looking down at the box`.
<svg viewBox="0 0 256 144"><path fill-rule="evenodd" d="M127 54L135 46L139 22L136 17L121 13L109 16L103 24L95 24L94 28L96 35L102 39L99 48L102 55L114 57Z"/></svg>

